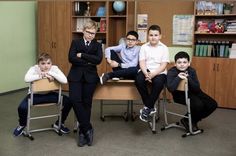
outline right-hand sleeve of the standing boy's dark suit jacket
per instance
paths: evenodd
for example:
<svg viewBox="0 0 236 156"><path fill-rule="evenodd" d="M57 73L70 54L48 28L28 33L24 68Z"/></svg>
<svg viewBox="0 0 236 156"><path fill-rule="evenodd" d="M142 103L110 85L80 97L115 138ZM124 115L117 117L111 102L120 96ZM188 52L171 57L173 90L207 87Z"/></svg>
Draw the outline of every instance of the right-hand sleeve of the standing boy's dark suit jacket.
<svg viewBox="0 0 236 156"><path fill-rule="evenodd" d="M98 65L102 61L102 45L100 43L97 43L97 49L95 54L87 54L82 53L81 58L85 60L87 63Z"/></svg>

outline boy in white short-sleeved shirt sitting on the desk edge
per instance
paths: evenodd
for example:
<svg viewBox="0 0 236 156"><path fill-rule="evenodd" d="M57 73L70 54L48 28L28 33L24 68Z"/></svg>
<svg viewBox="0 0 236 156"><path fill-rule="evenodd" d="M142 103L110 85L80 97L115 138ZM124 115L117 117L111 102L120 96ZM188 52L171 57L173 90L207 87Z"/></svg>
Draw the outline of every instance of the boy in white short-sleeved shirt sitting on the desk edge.
<svg viewBox="0 0 236 156"><path fill-rule="evenodd" d="M148 29L148 42L142 45L139 54L141 70L138 72L135 85L144 104L139 116L144 122L148 122L150 116L156 113L154 105L166 83L169 50L160 39L161 28L158 25L150 26ZM149 86L151 86L150 90Z"/></svg>

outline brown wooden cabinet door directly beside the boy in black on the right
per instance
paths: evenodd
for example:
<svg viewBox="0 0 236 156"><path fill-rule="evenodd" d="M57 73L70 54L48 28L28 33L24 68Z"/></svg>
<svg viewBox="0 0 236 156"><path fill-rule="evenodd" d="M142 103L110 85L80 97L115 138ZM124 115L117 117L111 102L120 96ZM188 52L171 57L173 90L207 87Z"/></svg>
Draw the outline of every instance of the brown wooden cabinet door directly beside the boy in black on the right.
<svg viewBox="0 0 236 156"><path fill-rule="evenodd" d="M196 69L201 89L215 97L215 58L193 57L191 66Z"/></svg>

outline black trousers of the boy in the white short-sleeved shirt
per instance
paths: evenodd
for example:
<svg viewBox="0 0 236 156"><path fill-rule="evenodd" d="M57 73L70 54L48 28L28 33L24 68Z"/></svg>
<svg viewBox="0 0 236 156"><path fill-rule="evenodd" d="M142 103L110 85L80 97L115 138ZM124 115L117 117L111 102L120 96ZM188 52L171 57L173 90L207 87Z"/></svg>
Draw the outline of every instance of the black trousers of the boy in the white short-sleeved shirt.
<svg viewBox="0 0 236 156"><path fill-rule="evenodd" d="M139 72L136 80L135 85L139 91L139 94L142 97L143 104L148 108L153 108L156 100L158 99L164 85L166 83L166 75L160 74L152 78L152 82L148 82L145 80L145 75L143 72ZM149 91L149 85L151 89Z"/></svg>

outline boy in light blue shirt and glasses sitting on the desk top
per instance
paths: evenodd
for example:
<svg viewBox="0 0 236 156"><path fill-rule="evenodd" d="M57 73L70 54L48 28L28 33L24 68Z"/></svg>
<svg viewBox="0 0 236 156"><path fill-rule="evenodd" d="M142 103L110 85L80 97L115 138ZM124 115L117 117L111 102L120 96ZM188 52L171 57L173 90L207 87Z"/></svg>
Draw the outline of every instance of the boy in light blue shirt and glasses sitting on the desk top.
<svg viewBox="0 0 236 156"><path fill-rule="evenodd" d="M109 79L119 78L134 79L138 72L138 57L140 46L138 43L138 33L129 31L126 34L126 42L117 46L105 49L105 58L112 67L112 72L103 73L100 77L101 84Z"/></svg>

